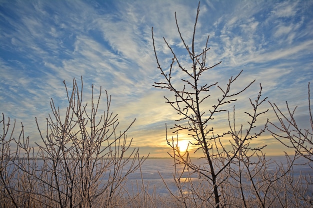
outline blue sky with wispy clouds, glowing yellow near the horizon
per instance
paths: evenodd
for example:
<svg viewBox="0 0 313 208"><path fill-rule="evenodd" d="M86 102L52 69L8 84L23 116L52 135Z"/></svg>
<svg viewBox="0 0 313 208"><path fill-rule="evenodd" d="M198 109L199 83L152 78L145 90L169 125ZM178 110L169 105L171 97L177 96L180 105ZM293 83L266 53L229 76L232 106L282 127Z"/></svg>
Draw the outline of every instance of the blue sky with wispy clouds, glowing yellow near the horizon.
<svg viewBox="0 0 313 208"><path fill-rule="evenodd" d="M169 68L172 58L163 37L190 69L174 13L190 45L197 5L195 0L0 0L0 112L15 119L16 132L22 122L34 145L40 142L35 118L44 130L51 98L61 110L67 107L62 81L70 87L73 78L80 83L82 76L85 102L89 102L91 85L95 94L102 88L101 108L106 105L104 90L112 96L110 110L118 114L119 130L136 119L127 137L133 138L132 147L139 147L140 155L167 157L165 124L168 137L175 136L170 127L180 117L163 97L173 95L152 86L163 77L154 56L151 28L163 69ZM284 112L285 101L290 108L297 106L297 122L307 128L313 1L202 0L199 9L196 50L203 49L209 35L207 64L222 61L203 74L201 82L218 82L224 88L240 70L234 90L256 80L233 103L236 125L246 125L244 111L251 109L249 98L256 98L261 84L263 98ZM183 76L174 73L179 83ZM203 111L208 112L218 96L220 92L213 88L212 104L203 106ZM266 118L277 121L267 102L261 109L269 111L259 126ZM227 114L217 115L209 125L222 131L228 125ZM191 138L180 133L179 139ZM251 143L266 144L267 155L287 151L268 132Z"/></svg>

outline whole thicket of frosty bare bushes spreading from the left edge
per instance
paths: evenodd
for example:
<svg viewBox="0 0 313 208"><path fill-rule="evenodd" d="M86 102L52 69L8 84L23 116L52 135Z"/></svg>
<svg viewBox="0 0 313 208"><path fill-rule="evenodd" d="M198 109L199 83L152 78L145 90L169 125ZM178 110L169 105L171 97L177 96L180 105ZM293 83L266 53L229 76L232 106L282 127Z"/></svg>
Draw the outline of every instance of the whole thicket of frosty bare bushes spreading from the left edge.
<svg viewBox="0 0 313 208"><path fill-rule="evenodd" d="M106 110L98 114L101 90L94 101L84 103L81 87L73 80L67 89L65 113L55 107L46 118L44 133L38 130L43 145L37 151L29 146L23 130L18 139L8 135L9 122L1 135L2 207L91 208L119 207L139 198L129 198L127 176L140 168L145 158L130 147L126 131L118 131L117 114L110 112L111 98L106 93ZM15 141L16 150L11 152ZM128 195L128 197L127 197Z"/></svg>

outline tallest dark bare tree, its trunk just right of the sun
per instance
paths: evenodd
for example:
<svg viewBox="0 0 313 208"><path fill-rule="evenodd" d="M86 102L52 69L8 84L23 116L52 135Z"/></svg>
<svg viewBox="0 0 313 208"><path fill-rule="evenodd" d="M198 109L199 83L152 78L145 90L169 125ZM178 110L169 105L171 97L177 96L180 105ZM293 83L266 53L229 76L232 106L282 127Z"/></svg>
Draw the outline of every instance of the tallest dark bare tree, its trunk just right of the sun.
<svg viewBox="0 0 313 208"><path fill-rule="evenodd" d="M261 87L257 99L255 102L250 100L252 111L250 113L246 112L249 120L246 131L241 128L239 130L235 129L234 121L233 127L230 125L229 121L229 130L221 133L216 133L213 127L210 126L212 120L215 116L220 115L227 110L228 104L236 101L236 96L245 91L254 81L247 84L245 87L238 91L231 91L233 83L238 79L241 72L235 77L230 77L226 87L223 88L218 85L217 82L212 84L200 84L202 83L201 77L211 68L217 66L221 62L207 66L207 52L209 47L207 46L208 38L206 39L204 48L197 53L195 48L195 31L196 24L199 14L199 5L197 8L193 36L191 40L191 47L189 47L182 34L180 32L178 21L175 13L176 26L180 39L184 45L184 48L187 52L187 57L191 65L190 69L186 68L178 56L175 54L175 51L172 46L166 41L163 37L165 44L169 48L172 54L171 63L169 64L169 69L164 70L160 65L157 51L155 49L154 37L153 37L153 28L152 28L152 39L154 53L157 63L157 68L161 71L161 75L164 78L162 82L155 82L153 85L156 88L167 89L174 94L173 99L165 97L166 103L168 103L179 115L181 118L177 120L178 123L173 127L174 132L187 131L188 135L193 139L193 142L190 142L190 145L197 147L196 151L202 151L203 157L206 162L202 165L196 165L192 162L192 159L189 157L189 152L182 153L177 144L170 141L166 136L167 144L172 148L173 154L171 156L174 158L175 163L183 164L185 166L184 171L192 170L196 172L200 179L202 179L200 185L195 189L195 187L190 187L190 190L193 192L193 197L177 197L176 200L180 201L184 207L189 207L187 201L193 201L193 206L212 206L212 207L222 207L225 202L222 202L222 199L225 199L222 194L222 185L229 177L229 166L235 161L235 159L240 158L244 150L260 151L263 147L251 148L249 145L250 140L256 139L259 137L266 129L267 122L265 122L264 127L256 130L256 118L261 114L267 112L267 110L259 111L259 106L265 101L266 98L261 99ZM177 77L175 74L179 71L180 75L184 74L183 78L180 79L182 87L179 88L177 83ZM211 90L215 88L220 91L220 97L217 100L210 99ZM210 102L209 102L210 101ZM208 105L213 104L210 108ZM166 134L167 135L167 134ZM232 140L229 140L228 146L230 149L226 148L227 139L224 139L226 136L231 136ZM178 141L178 138L177 138ZM180 175L177 176L178 186L180 186ZM199 192L199 190L201 190ZM185 192L184 192L185 193ZM199 194L199 193L202 193ZM182 195L182 192L180 193ZM213 199L213 202L211 201Z"/></svg>

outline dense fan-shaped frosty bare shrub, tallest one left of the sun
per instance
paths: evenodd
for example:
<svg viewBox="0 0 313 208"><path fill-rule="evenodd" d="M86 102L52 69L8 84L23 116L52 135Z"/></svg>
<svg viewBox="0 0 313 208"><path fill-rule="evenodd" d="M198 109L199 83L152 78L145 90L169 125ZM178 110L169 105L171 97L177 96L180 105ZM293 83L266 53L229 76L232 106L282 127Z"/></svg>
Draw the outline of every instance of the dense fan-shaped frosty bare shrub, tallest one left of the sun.
<svg viewBox="0 0 313 208"><path fill-rule="evenodd" d="M81 80L82 83L82 80ZM65 85L65 82L64 82ZM66 88L66 85L65 85ZM101 88L100 88L101 89ZM106 93L106 111L98 115L101 90L96 102L91 94L90 113L83 104L82 86L75 79L72 91L67 92L64 116L51 101L52 116L47 119L46 136L40 132L43 158L47 174L52 177L48 186L60 207L105 207L118 205L124 193L127 175L139 168L138 149L129 149L126 131L118 132L117 114L110 110L111 98ZM38 126L39 129L39 126ZM40 130L39 130L40 131Z"/></svg>

